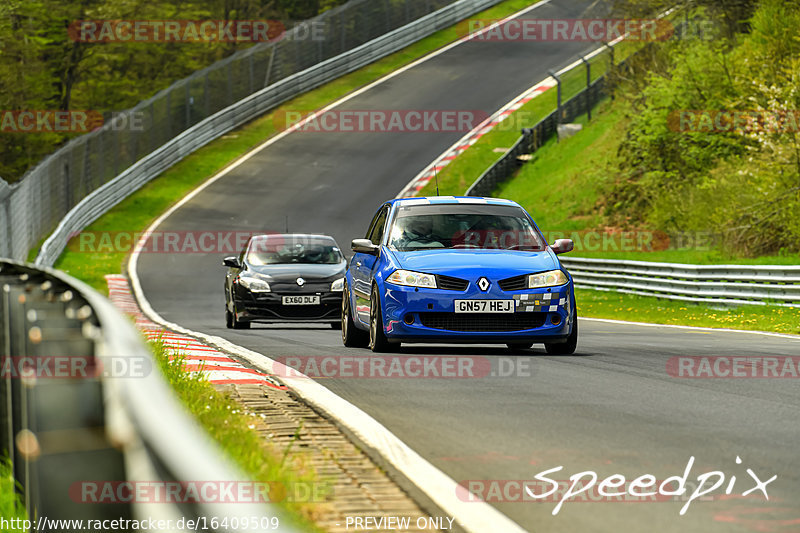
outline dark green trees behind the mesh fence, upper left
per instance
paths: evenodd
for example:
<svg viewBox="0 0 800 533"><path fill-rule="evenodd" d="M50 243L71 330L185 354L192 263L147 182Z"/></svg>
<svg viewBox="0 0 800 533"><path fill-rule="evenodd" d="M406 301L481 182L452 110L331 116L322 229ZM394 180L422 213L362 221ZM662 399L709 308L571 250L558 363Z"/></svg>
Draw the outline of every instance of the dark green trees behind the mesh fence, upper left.
<svg viewBox="0 0 800 533"><path fill-rule="evenodd" d="M0 109L119 111L247 43L79 43L78 20L290 21L345 0L5 0L0 2ZM12 182L75 133L0 134Z"/></svg>

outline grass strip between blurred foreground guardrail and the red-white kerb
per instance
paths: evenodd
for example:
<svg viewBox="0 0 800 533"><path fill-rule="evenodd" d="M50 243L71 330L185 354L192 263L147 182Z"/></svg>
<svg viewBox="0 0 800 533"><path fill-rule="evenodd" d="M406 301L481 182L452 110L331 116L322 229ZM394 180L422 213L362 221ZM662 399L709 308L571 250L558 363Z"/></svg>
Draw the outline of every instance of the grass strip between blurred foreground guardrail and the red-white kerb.
<svg viewBox="0 0 800 533"><path fill-rule="evenodd" d="M269 484L270 501L278 501L294 519L301 531L322 531L315 524L320 512L320 502L292 501L295 490L319 487L324 480L317 478L310 465L301 456L278 453L255 431L257 420L252 413L241 411L241 406L218 392L199 372L186 372L185 359L172 353L159 341L150 343L155 360L164 377L184 406L205 428L225 454L249 476L249 481ZM321 491L324 492L324 491ZM321 493L308 491L308 493ZM286 527L285 524L281 526Z"/></svg>

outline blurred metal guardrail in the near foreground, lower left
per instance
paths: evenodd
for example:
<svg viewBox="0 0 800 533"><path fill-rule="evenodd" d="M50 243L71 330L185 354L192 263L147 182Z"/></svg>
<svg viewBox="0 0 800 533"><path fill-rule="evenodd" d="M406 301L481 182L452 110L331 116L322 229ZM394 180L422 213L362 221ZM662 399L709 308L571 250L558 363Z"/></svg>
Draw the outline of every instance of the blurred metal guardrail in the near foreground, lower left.
<svg viewBox="0 0 800 533"><path fill-rule="evenodd" d="M226 531L210 517L277 516L278 530L293 531L274 505L75 501L84 481L244 481L178 403L131 322L87 285L0 260L0 348L0 456L12 461L30 519L207 517ZM71 361L87 372L43 377ZM23 364L30 374L17 372Z"/></svg>

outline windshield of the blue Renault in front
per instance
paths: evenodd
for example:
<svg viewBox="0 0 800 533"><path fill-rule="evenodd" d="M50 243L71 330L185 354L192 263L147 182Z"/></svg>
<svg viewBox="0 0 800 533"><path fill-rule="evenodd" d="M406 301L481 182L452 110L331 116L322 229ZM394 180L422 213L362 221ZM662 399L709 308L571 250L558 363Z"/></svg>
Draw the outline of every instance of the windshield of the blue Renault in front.
<svg viewBox="0 0 800 533"><path fill-rule="evenodd" d="M428 248L542 251L545 246L525 212L515 206L400 206L389 234L389 247L400 252Z"/></svg>

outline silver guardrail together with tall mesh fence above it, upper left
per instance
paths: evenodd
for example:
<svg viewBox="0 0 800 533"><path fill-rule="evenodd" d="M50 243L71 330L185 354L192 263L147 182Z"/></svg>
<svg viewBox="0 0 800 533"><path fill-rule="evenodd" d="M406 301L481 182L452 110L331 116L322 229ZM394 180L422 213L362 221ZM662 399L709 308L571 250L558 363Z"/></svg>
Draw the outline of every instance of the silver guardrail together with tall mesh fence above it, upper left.
<svg viewBox="0 0 800 533"><path fill-rule="evenodd" d="M52 265L71 233L194 150L498 2L351 0L308 22L321 25L316 34L323 41L302 40L296 28L176 82L120 114L120 121L144 115L141 131L108 123L67 143L20 182L0 179L0 257L26 258L57 226L36 260Z"/></svg>

